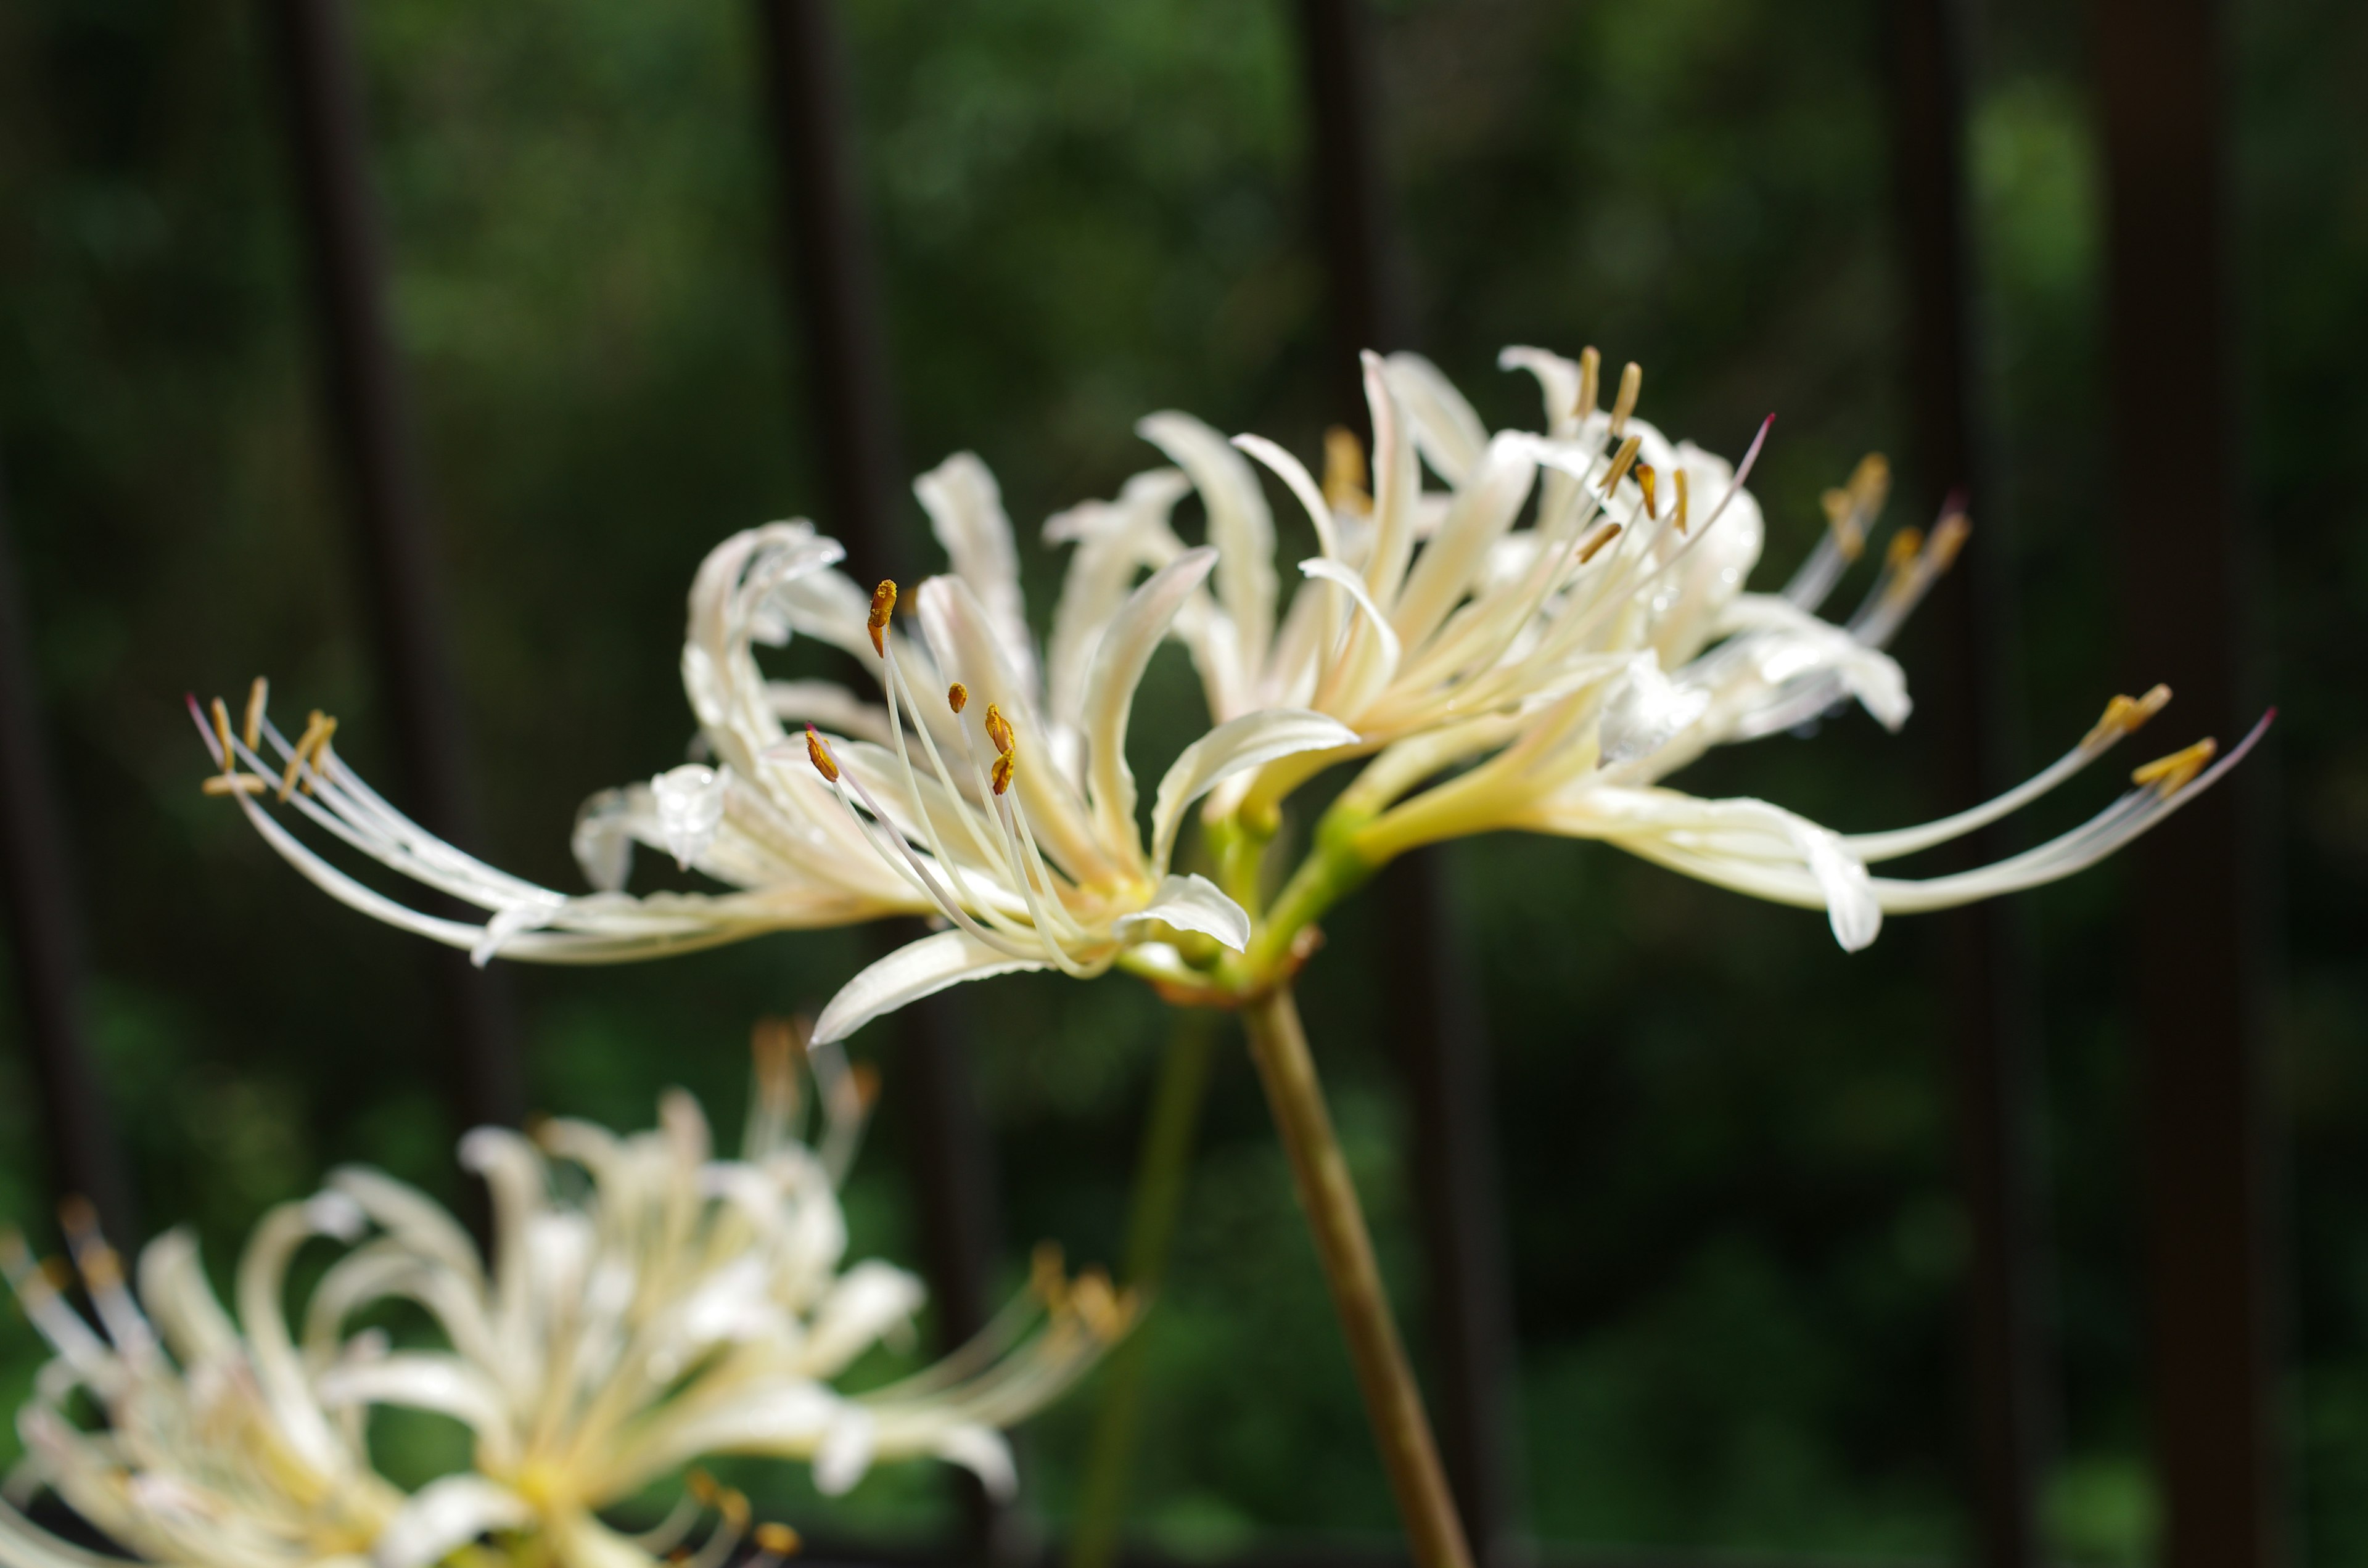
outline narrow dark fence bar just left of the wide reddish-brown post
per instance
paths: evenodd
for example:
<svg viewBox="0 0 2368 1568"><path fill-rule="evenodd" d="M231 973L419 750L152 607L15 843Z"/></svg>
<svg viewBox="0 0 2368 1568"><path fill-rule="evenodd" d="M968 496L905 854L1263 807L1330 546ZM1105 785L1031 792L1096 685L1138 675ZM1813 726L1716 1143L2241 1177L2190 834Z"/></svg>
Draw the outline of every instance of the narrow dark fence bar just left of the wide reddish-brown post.
<svg viewBox="0 0 2368 1568"><path fill-rule="evenodd" d="M1975 547L1932 595L1942 808L1961 810L2008 784L2010 538L1987 483L1980 355L1965 211L1970 0L1890 7L1894 163L1909 282L1913 505L1937 514L1965 493ZM1999 829L1965 860L2010 853ZM1963 1388L1973 1532L1984 1568L2039 1561L2036 1487L2053 1426L2036 1215L2032 1101L2036 1016L2018 907L1994 900L1942 917L1956 1056L1958 1191L1973 1234L1963 1300Z"/></svg>

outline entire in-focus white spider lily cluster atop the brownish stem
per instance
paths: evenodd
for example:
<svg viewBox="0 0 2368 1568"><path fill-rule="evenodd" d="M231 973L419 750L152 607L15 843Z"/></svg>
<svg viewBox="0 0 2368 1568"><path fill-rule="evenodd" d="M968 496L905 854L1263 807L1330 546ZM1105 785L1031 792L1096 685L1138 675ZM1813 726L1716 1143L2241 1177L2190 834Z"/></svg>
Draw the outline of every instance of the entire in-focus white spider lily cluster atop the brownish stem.
<svg viewBox="0 0 2368 1568"><path fill-rule="evenodd" d="M1885 912L1935 910L2070 874L2231 767L2202 741L2141 767L2084 827L1999 865L1885 879L1871 865L1958 838L2046 793L2150 718L2167 692L2115 699L2060 763L1942 822L1838 834L1764 801L1662 784L1707 748L1814 720L1842 701L1899 727L1906 680L1883 651L1949 568L1968 521L1902 531L1845 621L1819 616L1864 552L1887 474L1868 460L1826 495L1828 531L1790 583L1748 592L1764 526L1738 464L1636 417L1629 365L1603 405L1594 351L1504 353L1537 379L1539 431L1487 431L1416 355L1366 355L1373 460L1336 431L1321 481L1257 436L1177 412L1139 424L1175 467L1047 521L1070 559L1037 647L995 478L957 455L914 486L950 571L912 595L864 590L805 521L739 533L691 587L684 689L706 763L594 796L575 824L597 888L564 895L436 841L346 767L315 715L289 741L256 682L244 725L197 713L232 796L291 865L348 905L422 936L535 962L618 962L758 931L928 914L945 928L881 959L824 1009L819 1037L957 981L1122 966L1170 995L1255 995L1307 952L1312 921L1414 846L1494 829L1606 838L1688 876L1826 910L1845 947ZM1279 528L1257 467L1305 514L1317 554L1283 604ZM1198 495L1205 542L1175 509ZM864 689L770 680L758 647L812 637ZM1153 791L1148 834L1127 732L1160 642L1191 651L1208 727ZM876 692L874 692L876 689ZM194 711L194 703L192 703ZM2266 722L2266 720L2264 720ZM805 734L796 737L793 727ZM1267 900L1281 803L1362 763L1314 853ZM417 912L291 834L270 803L466 900L483 921ZM1210 876L1177 869L1201 808ZM729 893L623 893L635 846Z"/></svg>

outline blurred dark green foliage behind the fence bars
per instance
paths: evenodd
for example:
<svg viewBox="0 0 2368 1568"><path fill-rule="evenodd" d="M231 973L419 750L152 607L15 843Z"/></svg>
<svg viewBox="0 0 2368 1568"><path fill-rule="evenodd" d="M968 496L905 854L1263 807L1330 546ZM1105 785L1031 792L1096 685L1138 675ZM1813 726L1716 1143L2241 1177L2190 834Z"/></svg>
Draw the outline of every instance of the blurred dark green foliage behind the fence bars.
<svg viewBox="0 0 2368 1568"><path fill-rule="evenodd" d="M753 21L725 0L358 19L478 848L578 886L578 801L684 756L675 656L701 554L819 505ZM1819 490L1906 441L1880 21L1864 0L1378 7L1418 343L1492 424L1534 422L1532 386L1492 367L1511 341L1641 360L1646 412L1729 452L1778 410L1755 481L1776 578L1816 538ZM2226 21L2250 611L2285 715L2252 763L2276 898L2280 1414L2295 1544L2344 1563L2368 1561L2368 12L2245 0ZM992 464L1040 621L1058 554L1037 523L1153 467L1137 415L1186 407L1314 450L1331 379L1286 7L855 0L845 26L907 452ZM2081 7L1996 0L1977 59L1999 493L1973 502L1975 550L2010 550L2015 708L2032 756L2053 756L2119 675ZM260 1208L339 1161L462 1196L417 945L324 905L204 801L180 713L185 689L270 673L282 708L339 713L346 756L391 772L270 71L237 0L0 9L0 462L88 886L97 1045L144 1213L197 1225L218 1270ZM1191 701L1182 666L1163 670ZM1928 730L1840 715L1688 784L1887 827L1928 815ZM2103 791L2051 803L2046 831ZM1546 1551L1961 1554L1965 1222L1930 928L1897 921L1845 957L1819 917L1572 843L1459 846L1449 881L1497 1075L1525 1530ZM2067 1561L2136 1563L2157 1506L2124 876L2027 895L2025 914L2063 1426L2048 1530ZM1307 1011L1407 1284L1378 938L1362 910L1331 924ZM751 1018L817 1007L864 955L822 933L516 971L530 1101L644 1125L684 1082L736 1123ZM1006 1281L1040 1236L1115 1260L1163 1011L1125 978L1030 976L971 988L961 1014ZM0 1213L36 1220L43 1127L17 1033L0 1004ZM850 1196L860 1248L914 1258L905 1170L888 1116ZM1134 1535L1179 1554L1385 1540L1231 1042L1153 1324ZM0 1315L9 1405L33 1364L21 1317ZM1087 1414L1089 1397L1025 1440L1023 1514L1047 1535ZM746 1480L786 1518L879 1540L933 1540L954 1509L926 1469L834 1504Z"/></svg>

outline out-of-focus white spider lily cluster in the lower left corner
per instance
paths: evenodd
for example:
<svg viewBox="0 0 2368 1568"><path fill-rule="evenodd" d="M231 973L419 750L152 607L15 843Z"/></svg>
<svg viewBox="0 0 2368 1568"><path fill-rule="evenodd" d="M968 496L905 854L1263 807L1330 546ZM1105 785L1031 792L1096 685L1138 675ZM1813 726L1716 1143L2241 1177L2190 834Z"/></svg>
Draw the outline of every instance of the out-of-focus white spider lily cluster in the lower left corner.
<svg viewBox="0 0 2368 1568"><path fill-rule="evenodd" d="M715 1158L680 1092L654 1132L632 1137L575 1120L535 1139L471 1132L462 1156L493 1189L490 1270L436 1203L362 1168L263 1220L239 1265L237 1324L182 1232L142 1255L142 1312L114 1255L76 1227L97 1329L9 1236L0 1260L57 1352L19 1419L24 1480L128 1551L199 1568L424 1568L485 1535L521 1551L535 1542L538 1561L651 1568L706 1509L720 1523L691 1561L713 1568L746 1537L748 1504L696 1471L691 1497L651 1535L599 1518L703 1454L805 1459L824 1492L879 1459L940 1457L1009 1492L999 1428L1085 1371L1132 1303L1099 1274L1070 1284L1040 1258L1032 1291L961 1352L841 1393L867 1348L907 1331L921 1286L883 1262L845 1262L836 1187L869 1092L819 1052L822 1137L798 1142L800 1054L786 1026L760 1035L736 1161ZM585 1180L554 1182L552 1158ZM317 1234L355 1246L313 1289L296 1338L279 1305L287 1262ZM440 1348L353 1331L384 1300L422 1307ZM102 1428L69 1414L76 1395L104 1412ZM474 1466L405 1495L369 1461L377 1405L462 1421ZM760 1556L791 1540L781 1525L755 1532ZM92 1561L0 1506L7 1568Z"/></svg>

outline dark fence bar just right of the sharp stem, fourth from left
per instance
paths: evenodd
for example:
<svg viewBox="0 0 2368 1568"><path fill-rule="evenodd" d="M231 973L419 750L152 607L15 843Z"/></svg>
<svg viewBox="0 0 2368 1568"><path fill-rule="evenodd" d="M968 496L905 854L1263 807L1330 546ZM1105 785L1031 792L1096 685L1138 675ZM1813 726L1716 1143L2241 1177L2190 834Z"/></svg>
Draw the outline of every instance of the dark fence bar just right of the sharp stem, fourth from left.
<svg viewBox="0 0 2368 1568"><path fill-rule="evenodd" d="M1399 348L1407 306L1373 147L1373 66L1362 0L1300 0L1314 130L1314 206L1331 289L1333 403L1362 422L1362 348ZM1376 886L1388 931L1385 1011L1414 1111L1414 1177L1440 1454L1473 1559L1506 1559L1513 1516L1506 1289L1487 1037L1459 962L1440 850L1399 857Z"/></svg>

